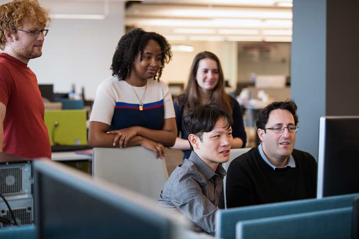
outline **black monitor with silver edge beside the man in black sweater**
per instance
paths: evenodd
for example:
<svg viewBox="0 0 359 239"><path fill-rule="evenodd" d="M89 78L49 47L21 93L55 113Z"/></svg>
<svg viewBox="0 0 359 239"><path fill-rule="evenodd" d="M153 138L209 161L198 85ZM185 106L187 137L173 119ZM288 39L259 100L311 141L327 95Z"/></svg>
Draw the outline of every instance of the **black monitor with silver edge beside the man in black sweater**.
<svg viewBox="0 0 359 239"><path fill-rule="evenodd" d="M317 198L359 192L359 116L322 116Z"/></svg>

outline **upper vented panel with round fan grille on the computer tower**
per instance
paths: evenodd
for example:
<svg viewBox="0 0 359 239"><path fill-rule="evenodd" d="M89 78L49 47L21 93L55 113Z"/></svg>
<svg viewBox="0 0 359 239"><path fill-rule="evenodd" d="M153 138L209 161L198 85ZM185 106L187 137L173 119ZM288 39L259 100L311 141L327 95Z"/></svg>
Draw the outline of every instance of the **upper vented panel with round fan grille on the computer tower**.
<svg viewBox="0 0 359 239"><path fill-rule="evenodd" d="M31 164L0 164L0 193L4 196L31 193Z"/></svg>

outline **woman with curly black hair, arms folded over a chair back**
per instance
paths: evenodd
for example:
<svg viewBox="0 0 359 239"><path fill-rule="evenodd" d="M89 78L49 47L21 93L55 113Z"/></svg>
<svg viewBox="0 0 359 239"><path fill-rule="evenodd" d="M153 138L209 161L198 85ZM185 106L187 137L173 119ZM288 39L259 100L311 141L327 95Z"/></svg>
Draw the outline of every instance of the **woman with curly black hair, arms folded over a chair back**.
<svg viewBox="0 0 359 239"><path fill-rule="evenodd" d="M112 77L98 87L90 116L93 147L141 145L164 157L177 128L171 93L160 81L172 58L167 40L135 28L123 35L112 58Z"/></svg>

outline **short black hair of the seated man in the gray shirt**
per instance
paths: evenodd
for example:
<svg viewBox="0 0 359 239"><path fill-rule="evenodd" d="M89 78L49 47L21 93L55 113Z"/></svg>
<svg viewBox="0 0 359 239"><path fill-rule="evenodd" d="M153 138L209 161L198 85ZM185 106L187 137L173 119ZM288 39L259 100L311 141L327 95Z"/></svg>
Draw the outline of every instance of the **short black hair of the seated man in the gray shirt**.
<svg viewBox="0 0 359 239"><path fill-rule="evenodd" d="M195 134L202 142L203 133L212 131L220 118L227 119L227 125L223 128L227 127L228 130L233 124L233 119L223 106L216 103L200 104L195 108L188 108L185 111L183 114L183 125L187 135ZM193 150L192 145L191 149Z"/></svg>

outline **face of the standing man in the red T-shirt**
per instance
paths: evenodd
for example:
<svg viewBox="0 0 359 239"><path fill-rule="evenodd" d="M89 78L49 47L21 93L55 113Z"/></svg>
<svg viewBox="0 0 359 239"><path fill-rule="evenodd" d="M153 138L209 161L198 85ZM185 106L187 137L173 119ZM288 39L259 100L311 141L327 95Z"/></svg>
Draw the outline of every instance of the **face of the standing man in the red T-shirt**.
<svg viewBox="0 0 359 239"><path fill-rule="evenodd" d="M29 21L23 24L20 30L43 30L40 23L32 24ZM28 63L30 59L40 57L42 55L42 45L44 42L43 33L30 34L28 32L16 31L14 34L14 41L9 42L7 45L14 57L24 63ZM6 49L6 48L5 48Z"/></svg>

